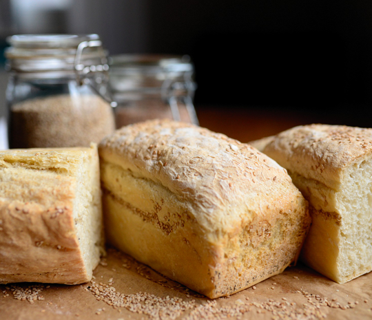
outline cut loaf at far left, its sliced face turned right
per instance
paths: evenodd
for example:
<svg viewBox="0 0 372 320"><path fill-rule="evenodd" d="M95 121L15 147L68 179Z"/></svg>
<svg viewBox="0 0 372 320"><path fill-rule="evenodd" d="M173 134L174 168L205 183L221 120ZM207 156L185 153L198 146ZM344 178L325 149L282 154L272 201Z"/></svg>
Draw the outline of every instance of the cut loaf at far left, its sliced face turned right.
<svg viewBox="0 0 372 320"><path fill-rule="evenodd" d="M90 281L103 245L96 145L0 151L0 284Z"/></svg>

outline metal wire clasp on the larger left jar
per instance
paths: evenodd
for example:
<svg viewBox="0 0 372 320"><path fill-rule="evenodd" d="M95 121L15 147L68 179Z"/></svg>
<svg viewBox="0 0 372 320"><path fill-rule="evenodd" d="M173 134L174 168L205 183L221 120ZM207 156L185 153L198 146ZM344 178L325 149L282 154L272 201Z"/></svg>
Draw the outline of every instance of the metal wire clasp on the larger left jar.
<svg viewBox="0 0 372 320"><path fill-rule="evenodd" d="M81 62L81 57L83 56L83 51L87 47L98 47L101 64L99 65L84 65ZM79 43L76 49L76 55L74 60L74 69L76 74L76 82L79 85L83 85L84 78L90 72L103 72L105 77L108 78L109 65L107 63L107 57L103 51L102 42L99 40L83 41Z"/></svg>

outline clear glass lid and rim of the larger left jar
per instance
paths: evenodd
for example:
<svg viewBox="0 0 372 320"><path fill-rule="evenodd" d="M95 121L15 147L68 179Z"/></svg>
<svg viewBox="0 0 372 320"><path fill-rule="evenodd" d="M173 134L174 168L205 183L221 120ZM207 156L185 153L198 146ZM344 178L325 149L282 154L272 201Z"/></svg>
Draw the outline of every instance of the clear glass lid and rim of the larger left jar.
<svg viewBox="0 0 372 320"><path fill-rule="evenodd" d="M98 34L19 34L7 39L8 70L23 76L81 76L107 72L107 54Z"/></svg>

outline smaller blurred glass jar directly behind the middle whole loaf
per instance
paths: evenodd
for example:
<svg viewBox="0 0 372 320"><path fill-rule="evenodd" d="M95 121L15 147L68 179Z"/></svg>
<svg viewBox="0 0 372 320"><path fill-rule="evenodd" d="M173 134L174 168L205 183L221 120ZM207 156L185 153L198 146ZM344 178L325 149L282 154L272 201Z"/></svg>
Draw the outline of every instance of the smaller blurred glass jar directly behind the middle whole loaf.
<svg viewBox="0 0 372 320"><path fill-rule="evenodd" d="M110 59L116 128L154 118L198 125L189 56L121 54Z"/></svg>

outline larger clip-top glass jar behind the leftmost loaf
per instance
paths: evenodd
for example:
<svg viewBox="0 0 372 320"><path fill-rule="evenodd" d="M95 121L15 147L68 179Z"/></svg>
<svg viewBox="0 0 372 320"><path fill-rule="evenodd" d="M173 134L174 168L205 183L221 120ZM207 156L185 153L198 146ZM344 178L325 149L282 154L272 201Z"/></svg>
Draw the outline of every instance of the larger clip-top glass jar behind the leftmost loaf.
<svg viewBox="0 0 372 320"><path fill-rule="evenodd" d="M89 146L114 131L97 34L25 34L8 42L10 148Z"/></svg>

